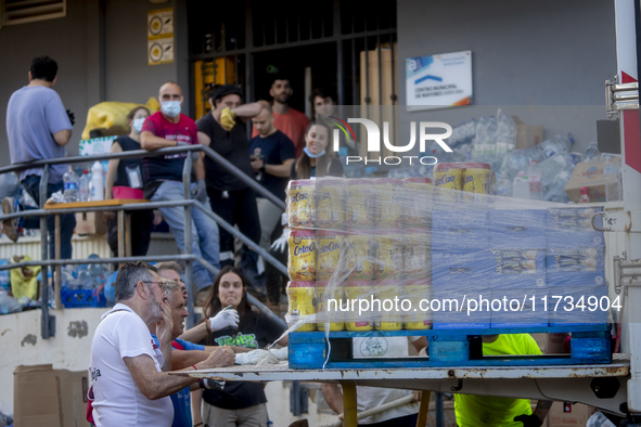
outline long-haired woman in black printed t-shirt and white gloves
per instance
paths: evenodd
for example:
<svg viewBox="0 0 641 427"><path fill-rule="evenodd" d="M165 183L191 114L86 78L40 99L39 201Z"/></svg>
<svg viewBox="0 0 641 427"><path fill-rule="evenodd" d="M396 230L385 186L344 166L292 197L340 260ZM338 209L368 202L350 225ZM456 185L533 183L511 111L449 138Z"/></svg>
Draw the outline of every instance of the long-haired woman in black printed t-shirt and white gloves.
<svg viewBox="0 0 641 427"><path fill-rule="evenodd" d="M235 346L247 349L266 348L281 337L285 329L265 314L252 310L247 300L247 280L243 273L227 266L214 281L203 309L205 318L233 307L241 318L236 329L227 327L209 333L201 344L206 346ZM278 341L287 345L287 337ZM210 427L235 425L239 427L267 426L268 415L265 386L247 381L225 381L220 389L205 389L192 393L194 425L203 422ZM201 415L201 396L205 401Z"/></svg>

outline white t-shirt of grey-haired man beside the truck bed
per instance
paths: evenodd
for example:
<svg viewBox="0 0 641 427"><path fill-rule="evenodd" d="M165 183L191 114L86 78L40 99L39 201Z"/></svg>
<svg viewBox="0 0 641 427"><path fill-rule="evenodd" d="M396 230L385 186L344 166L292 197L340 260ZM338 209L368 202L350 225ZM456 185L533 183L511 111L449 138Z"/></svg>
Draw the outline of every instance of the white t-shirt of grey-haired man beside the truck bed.
<svg viewBox="0 0 641 427"><path fill-rule="evenodd" d="M162 372L163 362L156 357L143 320L129 307L117 303L102 315L91 345L89 370L94 397L93 419L98 427L171 425L171 399L145 398L123 360L141 354L149 355Z"/></svg>

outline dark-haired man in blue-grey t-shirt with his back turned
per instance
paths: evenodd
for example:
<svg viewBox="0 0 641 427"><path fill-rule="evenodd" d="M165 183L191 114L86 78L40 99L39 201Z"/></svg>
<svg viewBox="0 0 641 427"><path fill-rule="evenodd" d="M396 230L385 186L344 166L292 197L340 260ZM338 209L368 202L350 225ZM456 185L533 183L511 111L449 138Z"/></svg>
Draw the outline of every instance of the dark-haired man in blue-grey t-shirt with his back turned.
<svg viewBox="0 0 641 427"><path fill-rule="evenodd" d="M51 87L55 83L57 64L49 56L36 57L29 69L29 85L16 90L7 106L7 135L11 164L29 163L40 159L60 158L65 156L64 146L72 138L74 116L65 111L57 92ZM62 176L66 165L49 167L47 197L63 190ZM42 168L28 168L20 172L24 189L40 205L40 177ZM2 200L3 214L14 209L13 200ZM25 223L38 221L38 218L25 218ZM17 240L15 222L4 221L3 229L14 242ZM34 224L35 225L35 224ZM49 257L54 251L54 217L47 218L49 229ZM31 228L24 224L25 228ZM37 227L35 227L37 228ZM76 228L73 215L61 216L61 257L72 258L72 235Z"/></svg>

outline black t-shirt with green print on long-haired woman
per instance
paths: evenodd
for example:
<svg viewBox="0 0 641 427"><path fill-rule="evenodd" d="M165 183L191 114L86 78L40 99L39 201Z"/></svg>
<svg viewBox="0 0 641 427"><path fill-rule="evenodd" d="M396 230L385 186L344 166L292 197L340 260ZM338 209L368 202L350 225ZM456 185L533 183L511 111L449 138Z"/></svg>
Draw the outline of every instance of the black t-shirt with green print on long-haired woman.
<svg viewBox="0 0 641 427"><path fill-rule="evenodd" d="M239 324L239 332L227 327L209 334L203 345L236 346L252 349L266 348L285 332L262 313L245 312ZM266 403L265 387L257 383L226 381L222 390L203 390L203 399L213 406L223 410L242 410Z"/></svg>

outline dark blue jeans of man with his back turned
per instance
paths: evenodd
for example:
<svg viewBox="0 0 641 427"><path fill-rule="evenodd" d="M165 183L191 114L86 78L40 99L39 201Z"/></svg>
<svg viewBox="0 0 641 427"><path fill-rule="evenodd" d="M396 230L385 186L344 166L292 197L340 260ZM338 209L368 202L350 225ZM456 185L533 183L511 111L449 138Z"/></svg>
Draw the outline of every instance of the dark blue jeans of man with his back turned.
<svg viewBox="0 0 641 427"><path fill-rule="evenodd" d="M27 193L36 200L38 206L40 205L40 177L37 174L29 174L26 177L22 184ZM47 198L57 191L64 189L62 182L55 184L47 184ZM39 218L29 217L23 221L23 227L26 229L39 229ZM76 228L76 217L73 214L65 214L60 216L60 258L70 259L72 258L72 236L74 235L74 229ZM49 231L49 259L55 258L55 217L47 217L47 230Z"/></svg>

